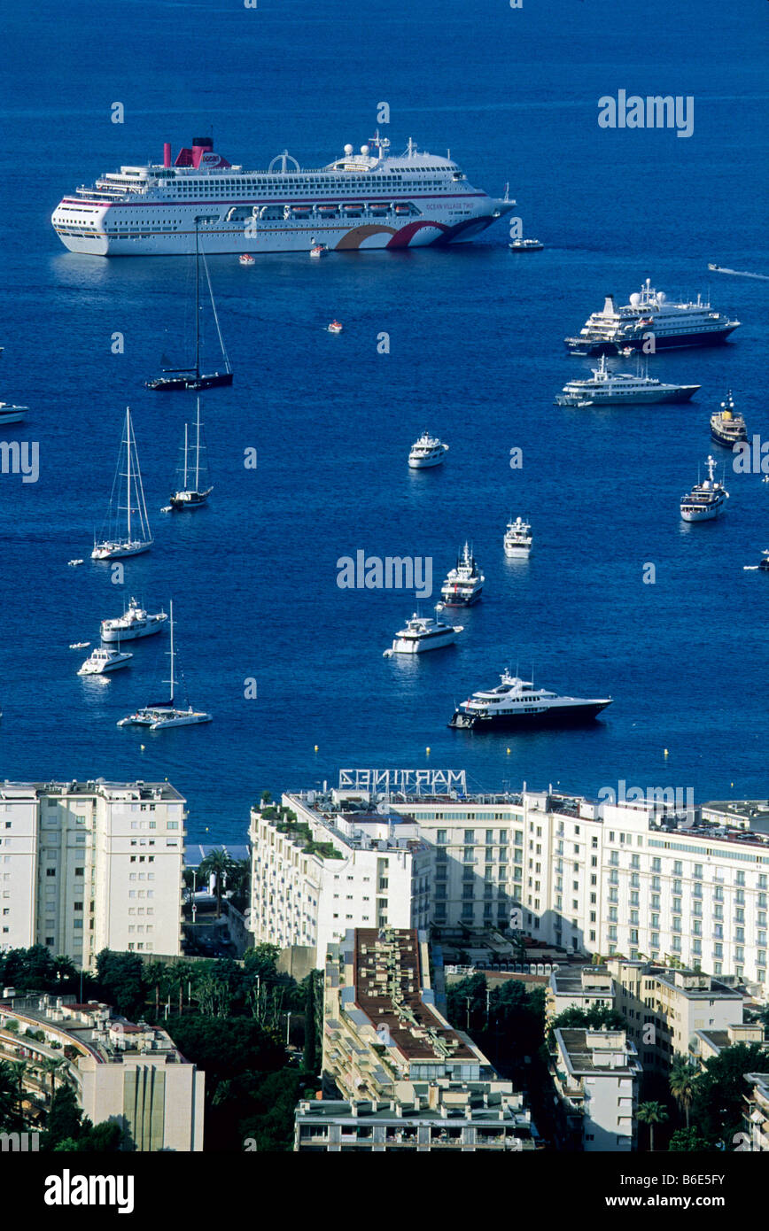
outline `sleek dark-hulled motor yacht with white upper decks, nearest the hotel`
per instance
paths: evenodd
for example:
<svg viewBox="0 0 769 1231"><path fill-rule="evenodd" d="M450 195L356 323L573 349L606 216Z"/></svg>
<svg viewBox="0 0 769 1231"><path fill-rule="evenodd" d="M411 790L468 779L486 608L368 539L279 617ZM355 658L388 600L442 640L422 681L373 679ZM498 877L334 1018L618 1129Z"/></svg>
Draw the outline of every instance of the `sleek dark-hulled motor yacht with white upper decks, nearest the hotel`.
<svg viewBox="0 0 769 1231"><path fill-rule="evenodd" d="M461 702L449 726L479 730L493 726L569 726L595 718L610 704L610 697L558 697L504 671L497 688L476 692Z"/></svg>

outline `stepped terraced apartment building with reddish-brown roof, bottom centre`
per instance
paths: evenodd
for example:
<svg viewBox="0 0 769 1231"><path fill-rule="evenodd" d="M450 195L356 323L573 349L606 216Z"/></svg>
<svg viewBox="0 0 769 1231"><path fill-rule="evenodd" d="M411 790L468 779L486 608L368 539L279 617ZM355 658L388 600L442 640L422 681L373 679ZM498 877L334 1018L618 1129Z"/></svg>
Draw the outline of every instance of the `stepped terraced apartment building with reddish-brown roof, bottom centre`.
<svg viewBox="0 0 769 1231"><path fill-rule="evenodd" d="M435 1007L426 933L356 928L325 966L324 1098L297 1150L532 1150L521 1094Z"/></svg>

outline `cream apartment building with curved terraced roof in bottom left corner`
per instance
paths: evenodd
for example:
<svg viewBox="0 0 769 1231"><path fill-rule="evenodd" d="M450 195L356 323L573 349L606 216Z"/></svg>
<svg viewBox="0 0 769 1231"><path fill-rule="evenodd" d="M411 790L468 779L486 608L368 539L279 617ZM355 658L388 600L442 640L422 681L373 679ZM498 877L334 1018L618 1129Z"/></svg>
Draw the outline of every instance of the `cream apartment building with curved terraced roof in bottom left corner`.
<svg viewBox="0 0 769 1231"><path fill-rule="evenodd" d="M115 1017L106 1004L74 996L7 996L0 1002L0 1059L23 1061L25 1115L44 1119L57 1060L94 1124L113 1120L140 1151L203 1149L205 1073L165 1030Z"/></svg>

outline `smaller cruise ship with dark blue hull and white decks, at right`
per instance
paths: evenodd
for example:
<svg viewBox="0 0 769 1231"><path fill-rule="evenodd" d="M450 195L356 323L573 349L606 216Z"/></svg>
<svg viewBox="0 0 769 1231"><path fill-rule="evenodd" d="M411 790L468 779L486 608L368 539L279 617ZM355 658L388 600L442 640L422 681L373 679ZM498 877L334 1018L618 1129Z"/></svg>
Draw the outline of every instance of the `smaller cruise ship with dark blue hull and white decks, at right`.
<svg viewBox="0 0 769 1231"><path fill-rule="evenodd" d="M738 327L738 320L714 311L701 295L696 303L668 303L664 291L654 291L647 278L621 308L614 295L606 295L603 309L588 316L578 336L564 341L574 355L615 355L627 347L641 350L648 334L654 335L654 350L661 351L715 346Z"/></svg>

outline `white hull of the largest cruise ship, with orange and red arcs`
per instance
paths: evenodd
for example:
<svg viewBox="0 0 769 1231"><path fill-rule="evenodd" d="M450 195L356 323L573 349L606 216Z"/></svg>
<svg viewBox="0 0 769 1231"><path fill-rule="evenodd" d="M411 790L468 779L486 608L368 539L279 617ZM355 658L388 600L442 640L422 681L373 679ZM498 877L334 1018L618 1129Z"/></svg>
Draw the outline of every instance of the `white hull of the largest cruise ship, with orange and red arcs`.
<svg viewBox="0 0 769 1231"><path fill-rule="evenodd" d="M260 202L261 203L261 202ZM474 239L514 202L494 201L486 193L461 194L420 203L418 217L371 211L360 217L324 219L322 215L259 222L253 230L227 222L235 202L131 203L89 202L65 197L52 215L53 228L70 252L89 256L191 256L195 219L205 208L216 222L198 227L206 255L309 252L317 244L332 251L424 247ZM282 204L282 202L279 202ZM288 202L286 202L288 204Z"/></svg>

